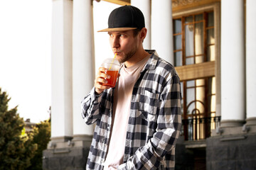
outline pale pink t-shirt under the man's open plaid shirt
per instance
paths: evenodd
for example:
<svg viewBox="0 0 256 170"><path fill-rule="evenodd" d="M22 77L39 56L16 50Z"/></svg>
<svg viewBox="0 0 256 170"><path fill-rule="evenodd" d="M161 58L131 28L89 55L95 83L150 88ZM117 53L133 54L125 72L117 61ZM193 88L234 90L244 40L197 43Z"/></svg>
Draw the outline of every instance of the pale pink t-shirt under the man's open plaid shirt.
<svg viewBox="0 0 256 170"><path fill-rule="evenodd" d="M117 81L114 89L114 122L112 122L112 135L104 170L116 169L123 162L132 89L149 57L150 55L128 68L125 68L123 64L123 67L120 69L119 81Z"/></svg>

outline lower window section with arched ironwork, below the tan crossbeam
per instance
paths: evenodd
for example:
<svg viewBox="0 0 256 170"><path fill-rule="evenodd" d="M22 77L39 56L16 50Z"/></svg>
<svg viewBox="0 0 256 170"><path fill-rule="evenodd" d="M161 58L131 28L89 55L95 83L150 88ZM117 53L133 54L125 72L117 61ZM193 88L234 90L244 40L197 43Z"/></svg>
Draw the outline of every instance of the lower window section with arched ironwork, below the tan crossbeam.
<svg viewBox="0 0 256 170"><path fill-rule="evenodd" d="M182 81L186 140L203 140L215 129L215 77Z"/></svg>

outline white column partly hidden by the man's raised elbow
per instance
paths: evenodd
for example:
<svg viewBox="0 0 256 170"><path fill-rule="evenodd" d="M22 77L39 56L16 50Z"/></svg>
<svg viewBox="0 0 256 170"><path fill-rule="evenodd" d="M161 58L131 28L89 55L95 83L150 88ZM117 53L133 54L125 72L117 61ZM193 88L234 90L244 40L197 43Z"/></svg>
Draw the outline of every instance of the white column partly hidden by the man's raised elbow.
<svg viewBox="0 0 256 170"><path fill-rule="evenodd" d="M85 125L81 101L94 84L92 1L73 0L73 136L92 135Z"/></svg>

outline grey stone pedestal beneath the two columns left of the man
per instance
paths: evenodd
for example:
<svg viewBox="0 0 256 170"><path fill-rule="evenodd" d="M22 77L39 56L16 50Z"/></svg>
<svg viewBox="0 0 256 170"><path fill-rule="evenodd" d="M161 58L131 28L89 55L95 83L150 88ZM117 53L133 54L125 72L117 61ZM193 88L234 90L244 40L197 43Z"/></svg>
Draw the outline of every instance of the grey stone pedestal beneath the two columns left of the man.
<svg viewBox="0 0 256 170"><path fill-rule="evenodd" d="M84 170L91 142L89 135L52 137L48 149L43 151L43 169Z"/></svg>

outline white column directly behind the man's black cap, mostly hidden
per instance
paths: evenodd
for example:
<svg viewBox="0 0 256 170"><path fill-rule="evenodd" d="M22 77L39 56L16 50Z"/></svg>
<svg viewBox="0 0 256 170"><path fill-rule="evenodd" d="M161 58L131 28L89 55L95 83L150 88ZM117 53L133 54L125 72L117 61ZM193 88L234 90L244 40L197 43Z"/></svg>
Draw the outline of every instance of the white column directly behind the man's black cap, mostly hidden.
<svg viewBox="0 0 256 170"><path fill-rule="evenodd" d="M143 47L144 49L151 49L151 0L131 0L131 5L139 8L144 15L147 33Z"/></svg>

